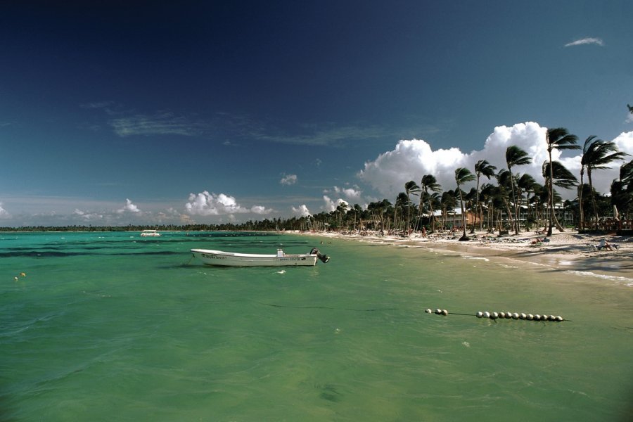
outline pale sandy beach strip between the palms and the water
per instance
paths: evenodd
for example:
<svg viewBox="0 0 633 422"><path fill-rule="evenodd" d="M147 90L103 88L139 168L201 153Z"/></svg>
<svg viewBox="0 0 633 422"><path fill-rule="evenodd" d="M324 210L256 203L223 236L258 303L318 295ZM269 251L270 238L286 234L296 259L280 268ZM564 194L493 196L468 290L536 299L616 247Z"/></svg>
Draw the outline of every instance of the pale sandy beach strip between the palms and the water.
<svg viewBox="0 0 633 422"><path fill-rule="evenodd" d="M409 237L383 235L376 232L338 233L302 232L312 236L350 239L356 241L384 243L430 249L466 252L469 255L498 257L504 260L520 260L550 269L579 271L609 278L622 278L633 286L633 238L615 234L578 234L577 231L555 231L552 236L534 232L520 232L517 235L497 236L486 232L468 234L469 241L459 241L461 233L430 234L414 233ZM607 241L613 250L600 248L601 241Z"/></svg>

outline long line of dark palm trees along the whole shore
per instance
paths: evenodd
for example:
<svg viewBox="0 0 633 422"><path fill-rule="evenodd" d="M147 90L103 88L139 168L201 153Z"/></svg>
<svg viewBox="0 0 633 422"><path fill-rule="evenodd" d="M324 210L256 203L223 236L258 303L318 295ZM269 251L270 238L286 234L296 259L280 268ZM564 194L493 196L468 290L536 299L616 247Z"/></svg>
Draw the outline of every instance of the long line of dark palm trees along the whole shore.
<svg viewBox="0 0 633 422"><path fill-rule="evenodd" d="M506 229L518 234L520 229L531 230L543 226L551 236L554 227L564 231L559 217L573 215L571 224L579 230L598 230L603 217L614 215L620 219L633 217L633 160L620 165L618 179L610 184L610 192L600 193L593 186L592 177L599 170L610 168L615 162L625 162L628 154L618 151L613 141L589 136L582 146L577 136L567 129L547 129L548 160L542 163L544 184L530 174L521 174L518 167L528 165L532 158L518 146L506 148L506 168L497 169L487 160L479 160L474 168L455 169L454 188L443 190L433 174L424 174L420 182L404 184L394 203L388 199L372 202L366 208L341 201L335 210L305 217L249 220L243 223L222 224L162 224L128 226L24 226L0 227L0 231L283 231L283 230L381 230L411 231L447 229L458 224L454 210L461 210L461 238L468 239L475 229ZM582 150L580 181L565 166L552 159L552 151ZM586 176L586 180L585 180ZM464 184L475 181L466 192ZM453 186L451 186L453 187ZM563 201L556 188L573 189L573 200ZM411 197L414 197L413 199ZM414 202L415 197L417 200ZM523 217L522 217L523 210ZM471 215L467 224L466 215ZM452 219L451 219L452 217ZM564 222L563 222L564 223ZM468 225L468 227L467 227Z"/></svg>

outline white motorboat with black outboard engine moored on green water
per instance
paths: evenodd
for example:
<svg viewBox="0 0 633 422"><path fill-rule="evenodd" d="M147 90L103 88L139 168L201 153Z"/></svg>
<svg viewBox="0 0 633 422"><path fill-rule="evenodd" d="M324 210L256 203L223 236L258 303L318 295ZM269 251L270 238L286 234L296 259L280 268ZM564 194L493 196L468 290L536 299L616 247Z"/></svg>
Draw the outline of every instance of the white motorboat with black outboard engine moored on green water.
<svg viewBox="0 0 633 422"><path fill-rule="evenodd" d="M328 255L322 255L312 248L309 253L286 254L278 249L276 255L255 253L224 252L222 250L192 249L193 256L207 265L224 267L314 267L316 258L328 262Z"/></svg>

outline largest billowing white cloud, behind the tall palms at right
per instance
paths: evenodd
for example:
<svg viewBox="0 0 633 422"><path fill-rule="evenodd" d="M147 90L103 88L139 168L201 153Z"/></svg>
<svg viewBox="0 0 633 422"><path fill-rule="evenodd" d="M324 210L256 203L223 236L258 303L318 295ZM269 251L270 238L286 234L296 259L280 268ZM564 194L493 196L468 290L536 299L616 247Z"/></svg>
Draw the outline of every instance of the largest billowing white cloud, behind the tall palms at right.
<svg viewBox="0 0 633 422"><path fill-rule="evenodd" d="M433 174L443 190L455 189L455 169L466 167L475 172L475 162L488 160L497 169L506 168L506 148L516 145L532 158L532 164L513 168L513 173L528 173L540 184L544 184L542 165L548 160L545 135L547 129L535 122L518 123L511 127L499 126L488 136L479 151L462 153L458 148L433 150L421 139L399 141L392 151L388 151L366 162L358 173L360 179L376 188L385 198L395 198L404 191L404 184L414 180L420 184L424 174ZM620 151L633 153L633 132L620 134L614 142ZM579 140L582 146L584 139ZM558 150L552 151L552 159L559 160L580 179L580 151L565 151L561 157ZM594 186L600 192L608 192L610 183L619 174L620 163L609 170L594 173ZM487 179L484 179L487 181ZM472 186L475 186L473 183ZM471 186L463 186L466 190ZM565 198L575 197L575 191L559 189Z"/></svg>

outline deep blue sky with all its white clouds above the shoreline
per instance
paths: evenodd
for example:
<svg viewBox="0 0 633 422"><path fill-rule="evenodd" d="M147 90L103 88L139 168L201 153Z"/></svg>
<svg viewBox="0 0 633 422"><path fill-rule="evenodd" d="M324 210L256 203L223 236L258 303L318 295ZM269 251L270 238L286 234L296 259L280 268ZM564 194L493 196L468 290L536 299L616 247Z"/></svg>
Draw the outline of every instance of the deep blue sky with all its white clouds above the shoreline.
<svg viewBox="0 0 633 422"><path fill-rule="evenodd" d="M511 145L533 158L513 173L542 183L552 127L633 155L631 16L628 0L4 1L0 226L366 207L424 174L455 189L456 167L501 169ZM580 178L579 151L554 158Z"/></svg>

